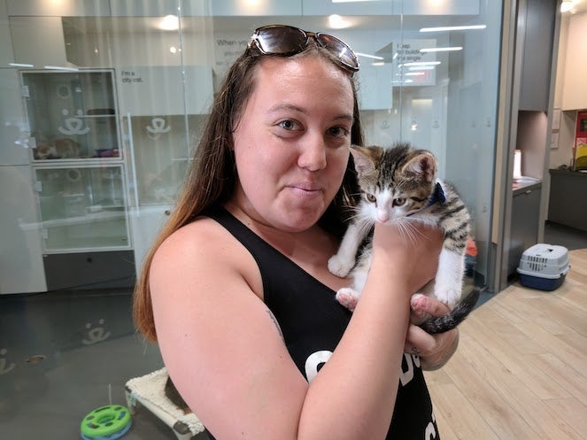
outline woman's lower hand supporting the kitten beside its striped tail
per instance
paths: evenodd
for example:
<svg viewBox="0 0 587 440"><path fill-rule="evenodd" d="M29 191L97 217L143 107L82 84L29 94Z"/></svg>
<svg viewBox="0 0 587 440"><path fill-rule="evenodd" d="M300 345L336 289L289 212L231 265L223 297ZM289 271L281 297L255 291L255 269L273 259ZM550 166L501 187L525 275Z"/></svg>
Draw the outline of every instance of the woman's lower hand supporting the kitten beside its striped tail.
<svg viewBox="0 0 587 440"><path fill-rule="evenodd" d="M420 322L423 317L443 316L451 309L431 297L421 297L412 304L412 322ZM425 370L436 370L451 359L459 345L459 330L453 328L445 333L429 335L411 323L405 338L405 352L420 356Z"/></svg>

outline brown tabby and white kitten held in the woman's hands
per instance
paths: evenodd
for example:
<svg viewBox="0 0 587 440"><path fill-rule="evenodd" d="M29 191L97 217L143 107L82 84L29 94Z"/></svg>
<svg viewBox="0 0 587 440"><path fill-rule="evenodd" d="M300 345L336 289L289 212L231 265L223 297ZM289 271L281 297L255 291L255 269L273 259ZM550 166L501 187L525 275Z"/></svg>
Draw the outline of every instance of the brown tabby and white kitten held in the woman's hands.
<svg viewBox="0 0 587 440"><path fill-rule="evenodd" d="M436 158L429 151L397 143L390 149L352 145L351 154L362 198L340 248L328 260L332 274L351 274L351 287L339 289L336 299L350 310L357 305L371 266L375 221L398 223L407 237L413 234L411 224L422 222L442 228L444 244L435 278L413 295L412 302L422 295L436 297L452 312L424 320L420 327L429 333L456 327L479 297L474 289L460 302L470 221L467 206L451 185L436 179Z"/></svg>

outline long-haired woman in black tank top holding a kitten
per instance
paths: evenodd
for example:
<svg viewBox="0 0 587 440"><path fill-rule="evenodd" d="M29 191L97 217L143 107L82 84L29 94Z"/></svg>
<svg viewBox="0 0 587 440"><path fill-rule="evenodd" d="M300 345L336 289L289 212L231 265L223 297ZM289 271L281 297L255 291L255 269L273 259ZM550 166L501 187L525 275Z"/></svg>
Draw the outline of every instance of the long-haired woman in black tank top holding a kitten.
<svg viewBox="0 0 587 440"><path fill-rule="evenodd" d="M435 274L441 233L412 243L377 226L354 313L327 268L356 194L358 69L333 36L257 29L137 284L138 328L219 440L438 438L421 364L442 365L457 332L410 325L409 301ZM414 313L447 312L429 300Z"/></svg>

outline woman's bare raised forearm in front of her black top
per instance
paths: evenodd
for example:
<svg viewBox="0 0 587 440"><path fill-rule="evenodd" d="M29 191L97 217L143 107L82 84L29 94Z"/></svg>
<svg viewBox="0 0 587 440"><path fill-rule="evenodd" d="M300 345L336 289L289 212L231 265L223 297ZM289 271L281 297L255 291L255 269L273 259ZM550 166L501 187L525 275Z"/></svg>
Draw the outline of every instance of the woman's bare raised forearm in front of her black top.
<svg viewBox="0 0 587 440"><path fill-rule="evenodd" d="M298 438L385 437L409 323L409 295L404 287L390 292L387 276L377 269L369 275L343 338L310 385ZM316 424L316 411L330 420Z"/></svg>

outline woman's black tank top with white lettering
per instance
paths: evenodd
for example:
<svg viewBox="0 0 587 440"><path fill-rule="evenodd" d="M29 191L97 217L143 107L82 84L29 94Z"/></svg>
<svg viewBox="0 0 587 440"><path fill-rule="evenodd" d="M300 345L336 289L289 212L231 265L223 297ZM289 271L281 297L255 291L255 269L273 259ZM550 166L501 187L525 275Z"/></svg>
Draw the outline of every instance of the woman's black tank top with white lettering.
<svg viewBox="0 0 587 440"><path fill-rule="evenodd" d="M291 358L311 382L335 350L351 312L338 304L333 289L274 249L224 208L213 207L205 215L220 223L251 252L263 280L265 304L279 322ZM404 354L398 398L386 440L439 438L420 359Z"/></svg>

